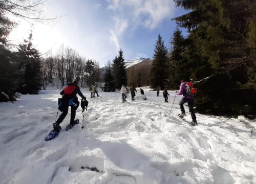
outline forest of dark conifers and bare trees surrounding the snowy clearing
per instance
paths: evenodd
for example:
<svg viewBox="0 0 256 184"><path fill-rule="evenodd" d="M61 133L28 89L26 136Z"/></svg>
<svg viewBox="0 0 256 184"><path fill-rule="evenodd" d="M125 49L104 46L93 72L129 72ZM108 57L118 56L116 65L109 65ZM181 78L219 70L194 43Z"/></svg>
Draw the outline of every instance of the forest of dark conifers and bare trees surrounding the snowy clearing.
<svg viewBox="0 0 256 184"><path fill-rule="evenodd" d="M15 100L17 91L37 94L38 90L56 83L53 76L57 76L60 81L59 88L78 79L82 87L104 82L104 91L113 91L122 84L177 90L180 79L185 79L193 82L198 89L198 112L255 115L255 1L174 2L187 13L173 18L177 29L170 33L171 50L166 49L159 35L151 62L126 70L123 51L120 50L102 73L98 62L86 59L64 45L56 53L40 54L32 44L33 31L27 40L13 47L7 36L16 22L11 21L6 12L24 16L24 11L37 7L20 4L19 1L1 1L0 101ZM38 1L35 5L40 3L43 2ZM186 36L182 34L181 28L186 29Z"/></svg>

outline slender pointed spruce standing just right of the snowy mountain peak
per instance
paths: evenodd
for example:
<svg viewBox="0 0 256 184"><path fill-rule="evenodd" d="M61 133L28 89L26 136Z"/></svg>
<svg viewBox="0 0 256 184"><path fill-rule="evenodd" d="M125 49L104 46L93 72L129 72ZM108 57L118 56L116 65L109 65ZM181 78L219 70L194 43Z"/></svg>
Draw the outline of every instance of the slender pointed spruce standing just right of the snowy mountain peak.
<svg viewBox="0 0 256 184"><path fill-rule="evenodd" d="M164 41L162 40L160 34L158 35L154 52L153 64L150 73L151 86L152 88L157 88L157 86L160 86L161 89L163 89L167 84L168 78L168 51L164 46Z"/></svg>

